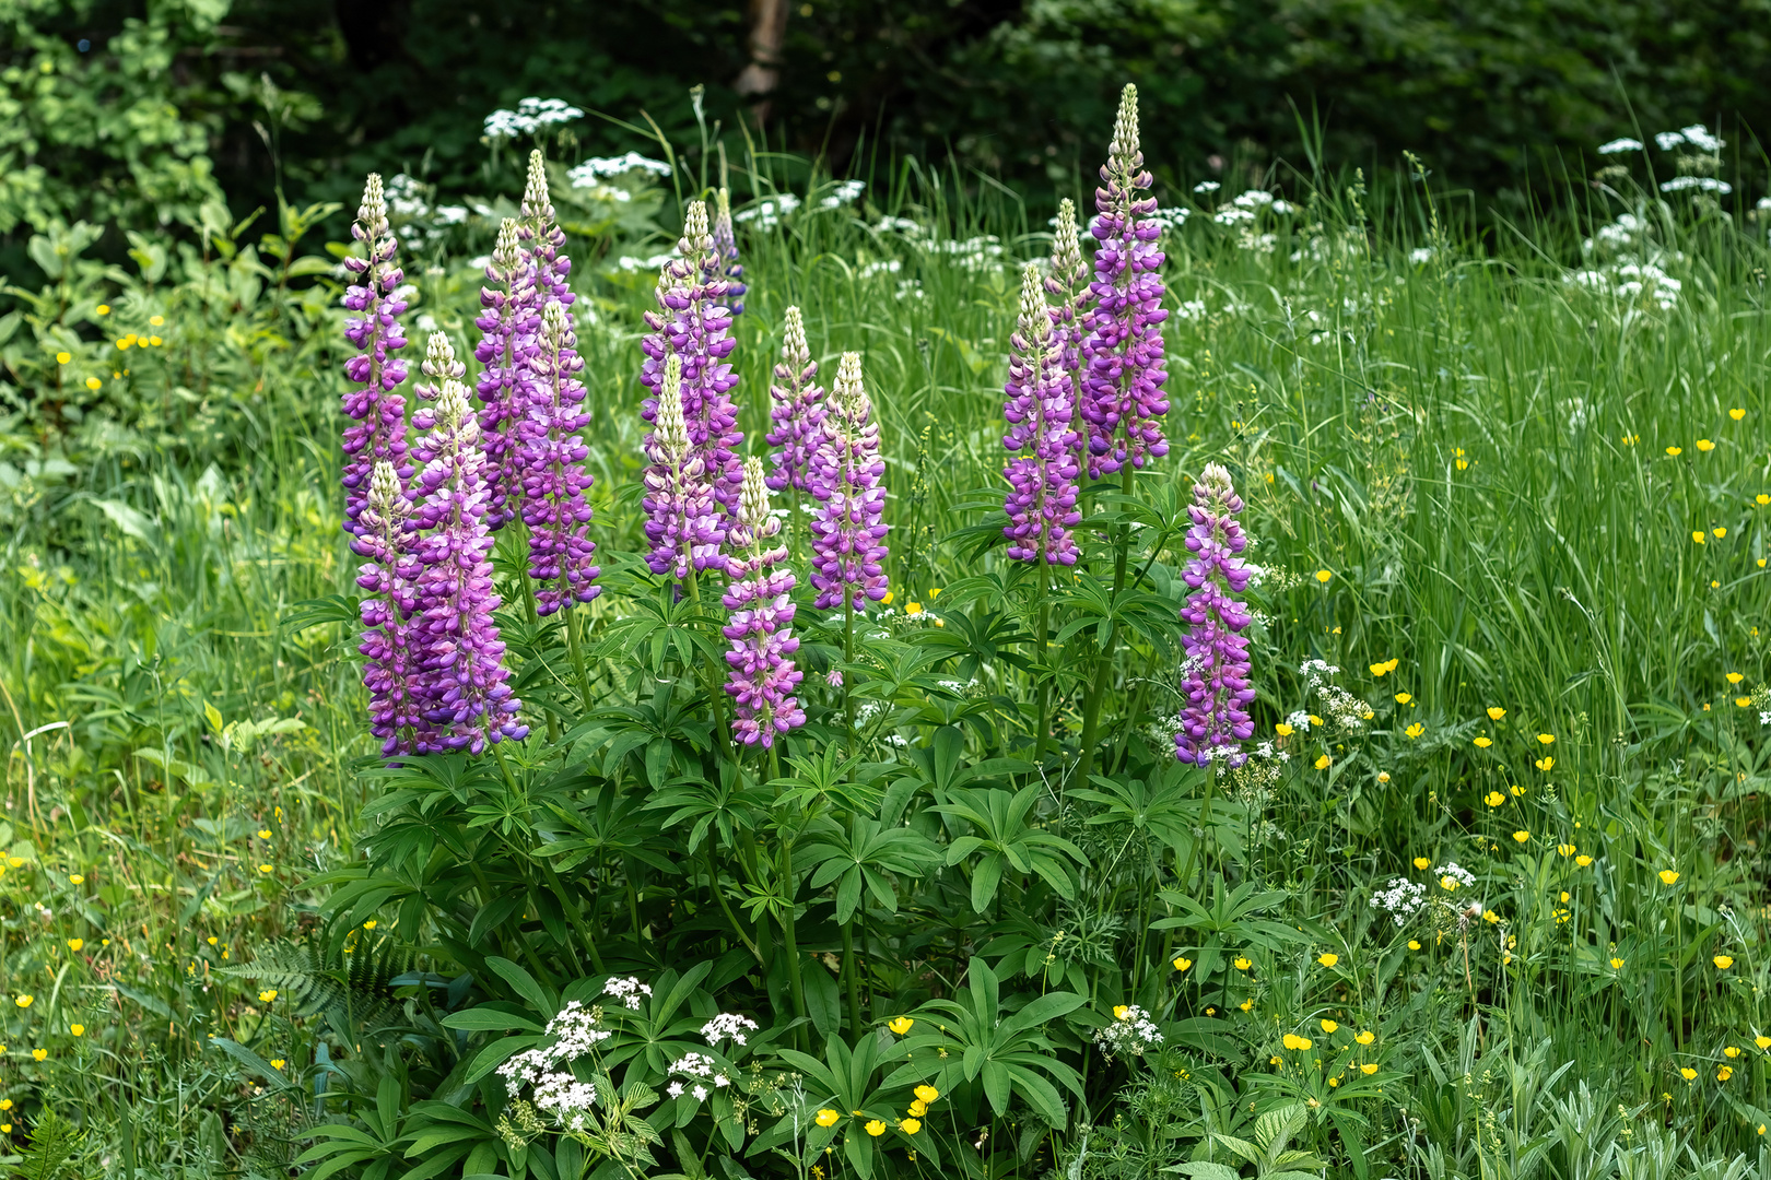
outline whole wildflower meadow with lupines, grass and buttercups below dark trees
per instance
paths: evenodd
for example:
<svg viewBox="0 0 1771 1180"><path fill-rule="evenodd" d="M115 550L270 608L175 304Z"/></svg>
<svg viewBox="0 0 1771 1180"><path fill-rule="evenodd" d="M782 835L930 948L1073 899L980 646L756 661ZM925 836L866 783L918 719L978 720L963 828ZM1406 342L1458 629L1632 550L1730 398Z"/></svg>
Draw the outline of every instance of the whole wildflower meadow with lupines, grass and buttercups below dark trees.
<svg viewBox="0 0 1771 1180"><path fill-rule="evenodd" d="M1757 149L583 119L30 239L7 1169L1771 1180Z"/></svg>

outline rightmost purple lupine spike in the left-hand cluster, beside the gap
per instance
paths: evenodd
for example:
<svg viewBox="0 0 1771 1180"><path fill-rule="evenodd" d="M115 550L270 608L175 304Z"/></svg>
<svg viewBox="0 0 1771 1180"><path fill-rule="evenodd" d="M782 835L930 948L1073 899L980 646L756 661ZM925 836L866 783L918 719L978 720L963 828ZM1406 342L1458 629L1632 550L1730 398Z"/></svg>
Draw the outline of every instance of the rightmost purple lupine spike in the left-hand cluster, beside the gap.
<svg viewBox="0 0 1771 1180"><path fill-rule="evenodd" d="M522 522L530 525L535 614L553 614L602 593L595 584L600 570L592 564L597 545L590 540L584 501L592 478L584 471L590 448L579 435L590 421L583 410L584 386L576 375L583 368L572 313L549 299L540 349L530 361L533 391L522 423Z"/></svg>

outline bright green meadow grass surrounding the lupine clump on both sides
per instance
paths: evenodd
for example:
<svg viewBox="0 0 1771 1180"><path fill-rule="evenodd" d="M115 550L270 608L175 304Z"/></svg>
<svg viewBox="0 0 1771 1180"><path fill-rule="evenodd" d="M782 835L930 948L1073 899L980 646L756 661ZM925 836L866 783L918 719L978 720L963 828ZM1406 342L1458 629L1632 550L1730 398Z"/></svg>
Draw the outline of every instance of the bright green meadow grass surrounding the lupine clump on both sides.
<svg viewBox="0 0 1771 1180"><path fill-rule="evenodd" d="M1017 271L1045 251L1029 232L1045 212L988 188L979 203L933 182L896 191L919 195L896 212L935 226L939 242L994 239L926 249L843 212L753 235L740 425L760 441L785 306L804 310L825 379L839 350L862 350L891 464L894 605L939 609L935 591L979 568L944 538L988 520L967 504L999 487ZM1224 1116L1208 1074L1243 1104L1334 1106L1332 1056L1318 1070L1307 1053L1272 1049L1275 1069L1263 1046L1302 1030L1321 1054L1369 1028L1374 1047L1348 1051L1381 1063L1381 1097L1358 1099L1369 1175L1771 1176L1771 1132L1757 1130L1771 1120L1771 1054L1755 1044L1771 1035L1759 722L1771 708L1771 506L1755 501L1771 494L1764 226L1649 207L1682 283L1661 310L1566 281L1594 228L1573 216L1477 244L1440 230L1419 196L1403 195L1381 225L1348 188L1288 196L1307 212L1268 214L1272 253L1238 248L1234 226L1204 216L1171 235L1167 306L1199 299L1204 311L1171 315L1172 453L1139 483L1172 502L1218 460L1249 501L1250 557L1266 570L1257 729L1328 713L1305 697L1300 665L1312 658L1339 665L1373 718L1360 734L1326 716L1288 738L1272 798L1243 791L1240 835L1211 853L1229 885L1279 890L1273 915L1309 941L1254 948L1241 973L1224 961L1254 943L1224 941L1218 957L1204 939L1195 966L1162 982L1176 1015L1201 1021L1185 1065L1174 1061L1190 1076L1132 1070L1121 1106L1096 1107L1093 1146L1063 1145L1080 1159L1070 1175L1155 1175L1190 1159L1201 1120ZM1411 262L1422 242L1436 253ZM464 257L439 271L411 267L413 311L462 340L476 278ZM634 373L652 280L577 274L597 311L581 331L597 540L604 556L632 554ZM168 324L174 345L179 331ZM145 1175L285 1175L324 1115L312 1090L266 1092L243 1058L205 1042L251 1046L305 1077L315 1046L356 1051L220 973L321 920L324 892L305 881L356 862L356 812L375 791L361 775L374 747L345 628L290 626L294 603L351 591L354 570L326 377L342 354L283 363L294 356L271 347L257 370L275 409L218 419L239 442L214 467L156 458L154 446L120 455L89 435L64 455L71 474L34 483L19 474L30 444L14 435L11 448L0 992L34 1000L7 1001L0 1095L16 1104L14 1145L51 1109L83 1129L78 1175L131 1157ZM251 375L228 396L246 402ZM629 609L609 593L590 616L606 626ZM1394 670L1373 672L1392 658ZM990 690L1020 685L994 676ZM1109 738L1142 741L1141 727L1172 711L1174 679L1160 644L1130 644ZM1080 676L1059 681L1070 739L1080 690ZM1489 708L1505 713L1491 720ZM983 713L1002 727L1017 716ZM299 725L253 729L276 718ZM1114 923L1158 904L1121 867L1130 844L1130 828L1091 828L1100 890L1050 916L1103 1001L1128 994L1116 964L1146 938ZM1153 856L1139 872L1185 876ZM1371 892L1392 876L1443 895L1415 858L1472 870L1458 902L1473 893L1500 922L1465 934L1449 908L1433 911L1436 925L1374 922ZM1665 883L1663 870L1679 876ZM1213 957L1218 971L1201 978ZM1323 1019L1342 1030L1311 1033ZM1312 1134L1330 1175L1367 1175L1344 1141Z"/></svg>

